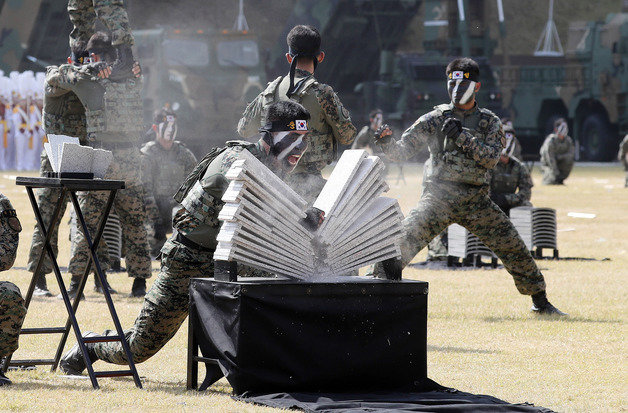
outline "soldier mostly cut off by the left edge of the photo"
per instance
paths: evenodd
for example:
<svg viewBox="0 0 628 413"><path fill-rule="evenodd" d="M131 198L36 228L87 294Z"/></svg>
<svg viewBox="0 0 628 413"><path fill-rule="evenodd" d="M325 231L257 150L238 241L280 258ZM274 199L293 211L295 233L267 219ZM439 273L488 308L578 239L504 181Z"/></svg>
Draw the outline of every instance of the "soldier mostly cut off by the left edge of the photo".
<svg viewBox="0 0 628 413"><path fill-rule="evenodd" d="M13 266L22 226L7 197L0 194L0 271ZM0 281L0 361L17 350L20 329L26 316L20 289L8 281ZM1 364L1 363L0 363ZM0 386L11 380L0 369Z"/></svg>

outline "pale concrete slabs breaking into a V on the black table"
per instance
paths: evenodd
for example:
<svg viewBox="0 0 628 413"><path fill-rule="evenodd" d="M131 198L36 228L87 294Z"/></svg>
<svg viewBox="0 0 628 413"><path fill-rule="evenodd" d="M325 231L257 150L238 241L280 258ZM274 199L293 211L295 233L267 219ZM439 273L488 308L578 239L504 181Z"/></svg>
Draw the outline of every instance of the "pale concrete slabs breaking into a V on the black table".
<svg viewBox="0 0 628 413"><path fill-rule="evenodd" d="M383 168L363 150L345 151L314 202L325 220L311 232L302 224L307 203L243 151L226 175L232 181L214 259L313 279L399 257L403 215L395 199L381 196Z"/></svg>

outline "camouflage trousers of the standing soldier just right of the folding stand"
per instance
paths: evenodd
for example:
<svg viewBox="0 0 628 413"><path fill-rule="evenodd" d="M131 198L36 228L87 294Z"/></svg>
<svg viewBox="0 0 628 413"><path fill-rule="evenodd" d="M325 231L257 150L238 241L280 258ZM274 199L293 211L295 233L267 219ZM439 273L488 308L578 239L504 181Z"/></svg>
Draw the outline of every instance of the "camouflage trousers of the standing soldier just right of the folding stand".
<svg viewBox="0 0 628 413"><path fill-rule="evenodd" d="M137 148L114 150L113 161L105 175L106 179L125 181L113 203L113 210L120 218L122 239L126 251L126 267L129 277L150 278L151 264L146 239L146 209L144 189L140 180L140 151ZM95 234L98 220L105 209L108 191L79 192L79 204L90 234ZM101 246L106 248L104 240ZM68 266L70 274L81 276L89 259L89 249L83 231L79 228L72 241L72 258Z"/></svg>

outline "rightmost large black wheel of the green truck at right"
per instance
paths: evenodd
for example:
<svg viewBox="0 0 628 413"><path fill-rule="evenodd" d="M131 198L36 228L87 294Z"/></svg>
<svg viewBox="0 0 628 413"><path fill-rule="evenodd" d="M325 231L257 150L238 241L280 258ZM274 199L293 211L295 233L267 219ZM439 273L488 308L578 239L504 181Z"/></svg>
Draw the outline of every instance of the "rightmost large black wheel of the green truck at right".
<svg viewBox="0 0 628 413"><path fill-rule="evenodd" d="M613 138L611 125L604 115L593 113L587 116L580 133L581 155L589 161L612 160L616 151Z"/></svg>

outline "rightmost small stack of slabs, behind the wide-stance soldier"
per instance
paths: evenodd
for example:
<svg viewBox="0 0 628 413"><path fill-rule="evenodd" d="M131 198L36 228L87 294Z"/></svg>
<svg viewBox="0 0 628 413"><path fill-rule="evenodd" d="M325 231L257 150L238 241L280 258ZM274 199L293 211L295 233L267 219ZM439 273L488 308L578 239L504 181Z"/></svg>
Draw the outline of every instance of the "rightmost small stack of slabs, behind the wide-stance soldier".
<svg viewBox="0 0 628 413"><path fill-rule="evenodd" d="M510 220L530 251L534 248L557 249L556 210L517 207L510 210Z"/></svg>

